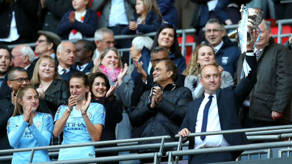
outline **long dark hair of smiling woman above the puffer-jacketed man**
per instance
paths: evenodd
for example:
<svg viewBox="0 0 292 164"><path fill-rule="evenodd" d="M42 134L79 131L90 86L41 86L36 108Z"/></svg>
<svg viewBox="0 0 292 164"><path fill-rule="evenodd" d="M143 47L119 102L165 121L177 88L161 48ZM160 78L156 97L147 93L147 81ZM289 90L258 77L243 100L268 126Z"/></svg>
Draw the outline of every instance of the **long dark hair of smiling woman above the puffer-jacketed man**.
<svg viewBox="0 0 292 164"><path fill-rule="evenodd" d="M159 27L155 37L154 37L154 40L153 40L153 46L152 46L152 50L154 50L155 47L158 47L158 36L160 34L160 32L163 30L163 29L173 29L174 31L174 43L171 45L170 47L170 52L171 53L174 53L175 54L175 57L178 58L178 57L183 57L182 53L180 52L180 46L178 45L178 36L176 34L176 29L173 27L173 25L170 25L170 24L164 24L162 26Z"/></svg>

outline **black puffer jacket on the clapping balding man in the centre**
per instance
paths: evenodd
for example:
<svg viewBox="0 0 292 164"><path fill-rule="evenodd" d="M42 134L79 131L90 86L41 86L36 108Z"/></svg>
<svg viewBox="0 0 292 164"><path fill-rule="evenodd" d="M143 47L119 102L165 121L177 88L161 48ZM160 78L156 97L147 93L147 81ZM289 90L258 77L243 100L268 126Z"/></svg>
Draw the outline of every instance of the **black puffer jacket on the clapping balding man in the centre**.
<svg viewBox="0 0 292 164"><path fill-rule="evenodd" d="M159 86L153 83L153 86ZM159 86L161 88L161 86ZM152 90L147 90L140 98L135 110L130 115L133 126L143 125L140 137L154 137L163 135L177 134L180 125L186 114L186 107L193 100L192 93L189 88L183 86L180 80L175 83L168 84L162 89L162 100L156 108L151 108ZM161 141L143 141L139 144L153 144ZM168 139L166 142L175 142L174 139ZM164 148L166 151L176 150L177 148ZM148 149L139 151L139 153L157 152L158 149Z"/></svg>

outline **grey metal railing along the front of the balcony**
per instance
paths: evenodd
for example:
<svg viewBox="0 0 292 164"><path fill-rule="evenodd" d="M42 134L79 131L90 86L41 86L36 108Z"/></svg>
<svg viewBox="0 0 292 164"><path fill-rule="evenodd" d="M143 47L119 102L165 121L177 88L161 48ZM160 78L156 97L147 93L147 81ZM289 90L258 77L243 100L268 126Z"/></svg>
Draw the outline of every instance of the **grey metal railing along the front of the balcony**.
<svg viewBox="0 0 292 164"><path fill-rule="evenodd" d="M263 127L263 128L249 128L249 129L237 129L237 130L222 130L222 131L215 131L215 132L200 132L200 133L191 133L188 135L188 137L195 137L195 136L201 136L201 135L219 135L219 134L230 134L230 133L239 133L239 132L258 132L262 131L263 133L259 133L259 134L265 134L265 133L270 133L267 130L273 130L273 133L276 133L275 130L281 130L281 129L291 129L292 125L282 125L282 126L273 126L273 127ZM283 131L279 131L279 132L283 132ZM71 147L82 147L82 146L95 146L95 145L106 145L106 144L118 144L118 143L126 143L126 142L139 142L139 141L150 141L150 140L162 140L160 144L144 144L144 145L132 145L132 146L118 146L115 148L111 148L113 149L112 151L129 151L129 150L145 150L145 149L151 149L151 148L159 148L162 152L164 146L165 147L175 147L178 146L178 151L172 151L171 152L171 156L180 156L181 152L180 149L182 146L186 146L182 144L182 137L180 137L179 135L176 135L175 137L179 138L179 142L169 142L169 143L165 143L164 144L164 139L170 139L171 136L159 136L159 137L145 137L145 138L135 138L135 139L121 139L121 140L112 140L112 141L100 141L100 142L88 142L88 143L79 143L79 144L65 144L65 145L54 145L54 146L41 146L41 147L32 147L32 148L20 148L20 149L8 149L8 150L0 150L0 154L5 154L5 153L14 153L14 152L23 152L23 151L31 151L31 156L30 156L30 162L32 161L33 158L33 153L34 151L38 151L38 150L52 150L52 149L61 149L61 148L71 148ZM292 137L292 133L288 133L288 134L280 134L278 135L279 139L286 139L289 137ZM292 142L289 142L292 143ZM265 143L266 144L266 143ZM258 146L255 149L263 149L263 148L272 148L269 147L270 144L261 147ZM286 144L284 144L286 145ZM251 147L248 147L248 145L242 145L240 148L240 150L244 149L244 146L246 147L246 150L251 150ZM277 145L279 147L282 147L283 144L279 144ZM289 145L292 146L292 145ZM230 148L230 146L228 146ZM206 148L207 149L207 148ZM226 148L224 148L225 150ZM230 149L234 150L234 147L231 147ZM96 149L97 152L105 152L104 148L98 148ZM204 149L205 150L205 149ZM229 150L229 149L228 149ZM237 150L237 149L236 149ZM107 150L107 152L112 152L110 150ZM189 150L192 151L192 150ZM177 153L179 152L179 153ZM183 151L185 152L185 150ZM174 154L173 154L174 153ZM192 152L189 152L192 153ZM202 152L203 153L203 152ZM180 155L178 155L180 154ZM139 156L141 155L141 156ZM188 153L183 154L183 155L188 155ZM147 155L142 155L142 154L131 154L131 155L125 155L123 157L117 157L117 158L107 158L109 159L107 162L109 161L113 161L115 160L132 160L133 158L135 159L149 159L149 158L153 158L154 156L156 156L156 158L160 158L160 153L147 153ZM127 158L129 157L129 158ZM131 158L130 158L131 157ZM132 158L133 157L133 158ZM141 158L140 158L141 157ZM102 161L105 159L106 157L102 157ZM6 156L4 157L0 157L0 160L3 159L7 159ZM100 158L96 158L96 161L90 160L89 162L101 162ZM177 158L178 160L178 158ZM68 162L68 161L67 161ZM87 161L88 162L88 161ZM71 161L70 161L71 163Z"/></svg>

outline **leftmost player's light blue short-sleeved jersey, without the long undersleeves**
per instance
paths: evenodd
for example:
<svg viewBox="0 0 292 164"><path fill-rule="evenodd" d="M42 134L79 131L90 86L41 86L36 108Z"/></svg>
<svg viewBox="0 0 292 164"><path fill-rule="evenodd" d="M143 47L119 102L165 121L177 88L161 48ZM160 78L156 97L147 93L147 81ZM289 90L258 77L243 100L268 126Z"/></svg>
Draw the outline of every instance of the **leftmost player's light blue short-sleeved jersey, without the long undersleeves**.
<svg viewBox="0 0 292 164"><path fill-rule="evenodd" d="M20 127L20 125L24 122L23 117L24 116L22 114L9 118L7 123L7 134L12 131L16 131L18 127ZM32 121L40 132L42 132L43 130L47 130L53 133L53 118L50 114L36 112L36 116L32 119ZM26 128L23 132L19 144L14 149L38 146L40 146L39 143L36 141L29 129ZM30 153L30 151L13 153L12 164L28 163ZM48 161L50 161L48 150L40 150L34 152L34 158L32 160L33 163Z"/></svg>

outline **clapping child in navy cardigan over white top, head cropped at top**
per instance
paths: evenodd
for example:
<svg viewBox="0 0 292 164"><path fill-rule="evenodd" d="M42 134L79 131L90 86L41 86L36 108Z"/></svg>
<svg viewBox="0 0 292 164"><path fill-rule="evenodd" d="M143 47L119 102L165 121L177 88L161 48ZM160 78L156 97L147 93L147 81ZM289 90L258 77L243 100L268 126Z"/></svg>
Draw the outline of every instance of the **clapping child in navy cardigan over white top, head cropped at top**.
<svg viewBox="0 0 292 164"><path fill-rule="evenodd" d="M57 26L57 34L62 39L82 39L93 37L97 29L98 16L88 7L89 0L73 0L72 6Z"/></svg>

